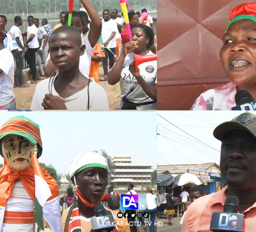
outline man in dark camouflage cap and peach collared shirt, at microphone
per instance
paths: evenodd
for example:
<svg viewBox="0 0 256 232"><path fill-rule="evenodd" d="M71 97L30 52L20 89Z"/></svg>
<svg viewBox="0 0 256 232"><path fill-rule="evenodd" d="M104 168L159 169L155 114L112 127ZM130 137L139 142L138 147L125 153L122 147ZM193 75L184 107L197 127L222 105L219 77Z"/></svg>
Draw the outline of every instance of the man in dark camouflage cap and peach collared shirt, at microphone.
<svg viewBox="0 0 256 232"><path fill-rule="evenodd" d="M191 204L182 232L210 232L212 212L223 212L228 195L239 198L239 213L244 215L244 232L256 226L256 115L245 112L213 131L221 141L220 170L227 182L220 192L206 195Z"/></svg>

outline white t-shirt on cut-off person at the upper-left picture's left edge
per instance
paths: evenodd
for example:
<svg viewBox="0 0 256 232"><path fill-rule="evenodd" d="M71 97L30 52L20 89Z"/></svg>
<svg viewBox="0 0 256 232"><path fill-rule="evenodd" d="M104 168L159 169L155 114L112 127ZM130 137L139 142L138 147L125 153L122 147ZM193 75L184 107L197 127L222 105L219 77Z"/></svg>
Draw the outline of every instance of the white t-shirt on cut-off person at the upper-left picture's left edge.
<svg viewBox="0 0 256 232"><path fill-rule="evenodd" d="M13 93L14 81L14 59L13 55L6 48L0 50L0 106L7 105L15 98Z"/></svg>

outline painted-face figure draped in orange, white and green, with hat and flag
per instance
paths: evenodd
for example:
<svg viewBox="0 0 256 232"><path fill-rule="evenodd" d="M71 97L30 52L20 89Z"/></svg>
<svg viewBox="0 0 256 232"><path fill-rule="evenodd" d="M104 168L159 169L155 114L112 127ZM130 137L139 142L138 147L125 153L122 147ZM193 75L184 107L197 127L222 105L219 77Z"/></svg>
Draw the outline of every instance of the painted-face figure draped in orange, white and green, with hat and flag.
<svg viewBox="0 0 256 232"><path fill-rule="evenodd" d="M40 167L39 125L24 116L0 128L0 232L61 231L58 184Z"/></svg>

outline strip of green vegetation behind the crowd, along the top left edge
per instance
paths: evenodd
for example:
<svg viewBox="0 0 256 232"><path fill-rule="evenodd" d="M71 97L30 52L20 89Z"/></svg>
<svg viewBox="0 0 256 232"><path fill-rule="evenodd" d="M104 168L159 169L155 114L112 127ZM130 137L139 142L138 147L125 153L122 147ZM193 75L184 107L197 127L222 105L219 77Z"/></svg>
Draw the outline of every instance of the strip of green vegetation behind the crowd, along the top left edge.
<svg viewBox="0 0 256 232"><path fill-rule="evenodd" d="M59 13L67 11L69 0L0 0L0 14L26 14L28 6L29 13ZM148 11L157 9L157 0L128 0L130 9L137 11L141 8L148 8ZM79 0L74 0L73 9L79 10ZM119 0L90 0L90 3L97 11L104 9L121 11Z"/></svg>

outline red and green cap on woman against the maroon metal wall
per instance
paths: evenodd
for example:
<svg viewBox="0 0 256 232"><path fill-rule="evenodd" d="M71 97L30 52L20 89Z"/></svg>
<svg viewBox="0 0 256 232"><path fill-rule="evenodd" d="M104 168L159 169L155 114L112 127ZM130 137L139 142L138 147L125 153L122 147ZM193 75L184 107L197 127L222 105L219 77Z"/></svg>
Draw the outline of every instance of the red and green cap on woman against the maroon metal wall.
<svg viewBox="0 0 256 232"><path fill-rule="evenodd" d="M256 23L256 3L244 3L233 8L230 14L230 22L227 25L227 29L232 23L243 19L252 20L254 23Z"/></svg>

